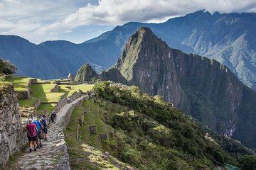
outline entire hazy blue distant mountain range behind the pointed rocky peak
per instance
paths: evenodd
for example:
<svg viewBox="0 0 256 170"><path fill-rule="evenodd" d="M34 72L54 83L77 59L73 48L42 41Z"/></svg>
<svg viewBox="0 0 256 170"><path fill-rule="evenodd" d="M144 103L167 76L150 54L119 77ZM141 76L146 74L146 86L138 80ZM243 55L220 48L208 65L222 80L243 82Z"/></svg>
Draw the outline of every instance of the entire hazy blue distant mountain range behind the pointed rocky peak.
<svg viewBox="0 0 256 170"><path fill-rule="evenodd" d="M0 56L14 62L18 74L44 79L66 77L69 72L75 74L85 62L100 71L117 62L129 37L146 26L170 47L213 58L225 64L247 86L256 89L255 21L256 13L197 11L164 23L126 23L81 44L46 41L33 45L25 40L10 43L1 36ZM41 64L34 67L33 60L40 60Z"/></svg>

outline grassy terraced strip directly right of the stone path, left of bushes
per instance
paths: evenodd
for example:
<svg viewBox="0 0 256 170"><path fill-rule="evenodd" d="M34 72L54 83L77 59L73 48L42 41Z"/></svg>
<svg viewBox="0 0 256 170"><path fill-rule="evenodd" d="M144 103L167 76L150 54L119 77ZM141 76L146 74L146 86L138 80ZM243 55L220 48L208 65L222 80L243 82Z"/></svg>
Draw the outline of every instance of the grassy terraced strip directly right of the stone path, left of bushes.
<svg viewBox="0 0 256 170"><path fill-rule="evenodd" d="M85 101L82 106L76 107L71 115L68 126L65 130L65 140L68 143L68 152L70 154L70 164L73 169L119 169L120 166L126 166L114 157L105 159L104 153L109 150L109 145L105 141L100 141L98 135L112 132L113 129L103 123L106 101L94 102L94 98ZM83 112L86 111L85 116ZM78 120L83 118L85 125L79 127ZM90 134L89 126L96 125L97 134ZM92 149L92 147L96 149ZM103 155L103 156L102 156Z"/></svg>

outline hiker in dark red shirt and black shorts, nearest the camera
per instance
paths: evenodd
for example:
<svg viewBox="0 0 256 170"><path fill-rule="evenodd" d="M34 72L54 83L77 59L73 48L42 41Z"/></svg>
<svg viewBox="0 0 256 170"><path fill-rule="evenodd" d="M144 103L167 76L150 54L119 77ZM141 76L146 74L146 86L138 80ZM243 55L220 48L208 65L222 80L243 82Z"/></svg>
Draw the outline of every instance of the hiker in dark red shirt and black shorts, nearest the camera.
<svg viewBox="0 0 256 170"><path fill-rule="evenodd" d="M34 147L34 151L36 151L36 124L33 123L32 118L28 119L28 125L26 125L26 130L27 132L27 137L28 137L28 147L29 147L29 152L32 152L32 145Z"/></svg>

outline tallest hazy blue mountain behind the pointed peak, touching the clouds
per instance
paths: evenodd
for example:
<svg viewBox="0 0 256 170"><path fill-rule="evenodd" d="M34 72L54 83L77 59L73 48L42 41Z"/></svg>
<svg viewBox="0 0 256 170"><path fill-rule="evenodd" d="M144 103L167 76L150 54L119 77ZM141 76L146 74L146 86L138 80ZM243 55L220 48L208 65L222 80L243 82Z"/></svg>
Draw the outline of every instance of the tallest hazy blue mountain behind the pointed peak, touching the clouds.
<svg viewBox="0 0 256 170"><path fill-rule="evenodd" d="M159 24L127 23L84 43L107 41L122 49L138 28L146 26L170 47L215 59L256 89L255 21L255 13L197 11Z"/></svg>

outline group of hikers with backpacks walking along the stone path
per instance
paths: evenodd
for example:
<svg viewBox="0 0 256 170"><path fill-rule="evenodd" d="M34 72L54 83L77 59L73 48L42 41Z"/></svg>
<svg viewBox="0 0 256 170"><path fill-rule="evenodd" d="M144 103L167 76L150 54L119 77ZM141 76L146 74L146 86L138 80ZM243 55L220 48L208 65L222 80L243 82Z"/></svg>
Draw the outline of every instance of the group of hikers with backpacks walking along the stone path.
<svg viewBox="0 0 256 170"><path fill-rule="evenodd" d="M56 122L56 113L53 111L50 114L50 119L52 123ZM40 149L43 147L42 140L47 140L48 132L48 119L46 114L41 115L41 118L28 118L28 124L26 125L27 137L28 137L28 147L29 152L32 152L32 149ZM33 148L32 148L33 147Z"/></svg>

